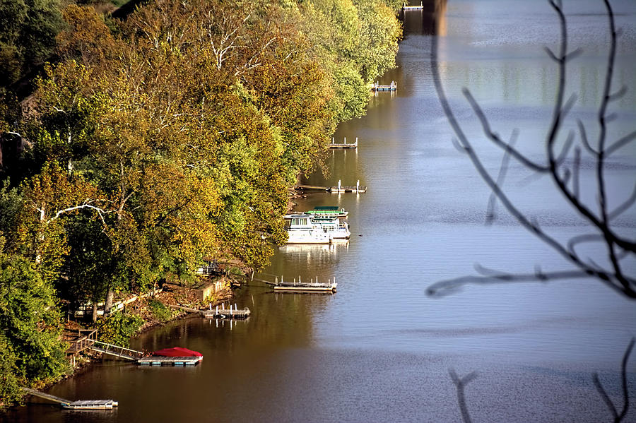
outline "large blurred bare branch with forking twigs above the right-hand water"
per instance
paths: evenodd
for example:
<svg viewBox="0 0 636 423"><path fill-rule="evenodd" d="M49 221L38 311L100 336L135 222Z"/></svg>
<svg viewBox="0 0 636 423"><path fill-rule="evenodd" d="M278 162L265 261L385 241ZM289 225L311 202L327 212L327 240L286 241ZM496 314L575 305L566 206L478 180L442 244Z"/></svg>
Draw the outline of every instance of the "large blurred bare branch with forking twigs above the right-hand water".
<svg viewBox="0 0 636 423"><path fill-rule="evenodd" d="M524 155L514 146L514 140L517 133L513 133L511 141L507 142L501 138L500 134L493 129L481 109L478 102L468 88L464 88L463 93L471 105L473 112L476 113L486 138L492 141L503 152L502 167L497 177L490 174L485 169L481 157L476 153L471 141L466 133L461 129L457 117L455 117L452 108L447 101L440 72L437 68L437 43L435 37L432 37L432 74L437 89L437 95L442 103L444 113L449 119L449 123L456 134L459 144L458 148L468 155L473 166L478 171L481 178L490 187L493 192L493 198L490 201L488 215L493 218L494 199L496 198L505 209L512 215L520 225L529 230L538 239L550 246L557 254L560 254L567 261L570 261L574 268L572 270L553 271L545 273L540 268L536 269L533 274L518 274L497 272L496 270L488 270L478 268L482 275L466 276L454 280L444 280L435 283L428 288L429 294L444 294L452 291L466 283L492 283L492 282L514 282L518 280L553 280L561 278L596 278L603 282L613 290L624 294L626 297L636 299L636 275L630 275L630 268L624 263L630 258L636 256L636 242L629 234L621 234L613 226L613 222L622 213L625 213L636 201L636 186L634 191L625 193L623 203L610 209L607 203L607 160L612 154L616 153L620 148L625 148L636 139L636 131L620 136L616 140L608 139L608 124L611 122L612 115L608 112L608 107L625 94L626 88L616 90L613 87L613 70L616 61L616 41L618 30L615 27L613 11L608 0L604 0L608 16L608 32L611 35L611 41L608 46L608 59L606 64L606 77L603 85L603 95L598 107L597 119L599 124L599 135L596 143L592 143L588 138L588 129L582 121L578 121L579 142L575 145L575 133L567 134L565 141L559 142L560 133L563 132L563 122L567 118L568 112L572 109L576 101L576 96L572 95L565 100L565 83L567 78L567 64L574 60L579 52L576 50L570 52L568 50L567 39L567 22L563 7L560 1L550 0L550 5L554 8L560 21L560 51L552 52L546 48L548 55L557 64L558 68L558 87L556 88L555 103L553 107L553 117L550 121L548 132L545 140L546 157L543 162L536 162L533 158ZM587 153L594 162L596 181L590 186L581 186L579 180L579 170L581 166L582 155ZM538 222L524 213L510 199L506 192L503 181L507 170L509 160L515 160L517 163L538 174L544 174L553 181L554 189L560 193L567 203L577 212L582 221L591 227L594 231L589 234L582 234L573 237L567 243L561 242L550 233L538 225ZM598 203L596 210L594 204L587 202L582 198L581 193L584 189L595 190ZM607 263L596 263L591 258L586 258L577 252L577 246L584 243L594 242L603 246L606 251Z"/></svg>

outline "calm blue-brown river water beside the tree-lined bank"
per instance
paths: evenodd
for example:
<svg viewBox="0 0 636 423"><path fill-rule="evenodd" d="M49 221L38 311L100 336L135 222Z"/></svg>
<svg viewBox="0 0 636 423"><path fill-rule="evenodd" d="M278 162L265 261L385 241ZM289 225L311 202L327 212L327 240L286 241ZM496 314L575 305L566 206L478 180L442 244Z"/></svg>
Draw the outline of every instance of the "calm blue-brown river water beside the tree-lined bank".
<svg viewBox="0 0 636 423"><path fill-rule="evenodd" d="M614 2L623 28L616 85L628 93L613 104L612 139L635 129L636 5ZM415 4L415 2L413 2ZM597 100L604 78L606 18L602 2L565 0L572 48L568 93L579 117L598 133ZM334 246L283 246L258 279L336 278L334 295L273 294L261 282L237 292L247 321L187 318L146 333L133 347L184 346L204 354L194 368L138 368L115 360L59 383L63 398L119 401L110 412L63 412L43 403L14 410L20 422L458 422L449 369L477 377L466 387L473 422L599 422L611 415L592 383L598 371L619 407L620 360L636 333L636 303L595 280L468 286L429 297L439 280L475 273L476 264L533 273L570 266L519 227L499 206L487 226L488 189L453 134L432 85L430 41L440 42L440 73L449 102L494 174L501 152L489 145L461 95L470 88L505 139L536 161L554 99L555 13L543 1L452 0L437 12L408 11L398 67L380 81L396 93L372 97L367 115L341 124L336 140L358 150L333 151L331 174L311 184L367 186L366 193L316 193L298 210L338 205L350 211L352 237ZM590 158L581 166L582 198L594 204ZM613 206L632 192L636 148L608 161ZM546 177L512 162L505 188L525 213L556 239L590 228L580 222ZM631 208L616 230L633 237ZM582 256L606 261L585 244ZM633 275L634 261L625 263ZM628 366L632 402L636 357ZM626 421L636 421L635 407Z"/></svg>

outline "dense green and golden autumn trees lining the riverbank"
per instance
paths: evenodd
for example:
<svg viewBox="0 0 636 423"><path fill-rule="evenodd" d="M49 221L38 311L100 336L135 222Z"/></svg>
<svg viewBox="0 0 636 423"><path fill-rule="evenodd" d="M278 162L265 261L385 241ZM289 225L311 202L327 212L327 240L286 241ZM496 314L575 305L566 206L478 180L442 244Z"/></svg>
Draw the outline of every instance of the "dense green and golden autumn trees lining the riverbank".
<svg viewBox="0 0 636 423"><path fill-rule="evenodd" d="M392 1L155 0L125 20L29 1L0 3L1 84L56 59L0 102L9 401L64 370L59 301L108 310L204 258L264 266L290 186L364 113L401 33Z"/></svg>

